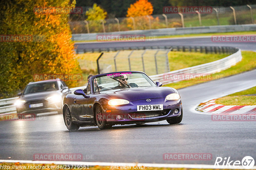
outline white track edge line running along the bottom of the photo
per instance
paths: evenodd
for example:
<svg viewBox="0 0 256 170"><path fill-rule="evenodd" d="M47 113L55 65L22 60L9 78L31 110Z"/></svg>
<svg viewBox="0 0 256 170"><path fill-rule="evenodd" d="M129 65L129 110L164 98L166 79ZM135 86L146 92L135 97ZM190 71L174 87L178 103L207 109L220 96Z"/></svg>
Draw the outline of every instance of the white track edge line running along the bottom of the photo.
<svg viewBox="0 0 256 170"><path fill-rule="evenodd" d="M4 160L0 162L6 163L31 163L31 164L57 164L57 165L84 165L84 166L144 166L144 167L170 167L170 168L202 168L202 169L246 169L243 166L214 166L206 164L157 164L157 163L123 163L123 162L78 162L78 161L41 161L41 160ZM253 166L251 169L256 169Z"/></svg>

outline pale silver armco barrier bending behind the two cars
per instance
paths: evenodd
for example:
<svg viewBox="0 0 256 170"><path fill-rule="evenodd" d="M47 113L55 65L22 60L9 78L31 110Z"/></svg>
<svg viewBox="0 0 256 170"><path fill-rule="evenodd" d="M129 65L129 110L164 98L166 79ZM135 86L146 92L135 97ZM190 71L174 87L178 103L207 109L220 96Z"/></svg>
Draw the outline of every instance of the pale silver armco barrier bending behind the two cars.
<svg viewBox="0 0 256 170"><path fill-rule="evenodd" d="M183 49L185 49L185 48L183 48ZM201 48L201 49L203 49L203 48ZM207 48L204 48L204 50L205 49L207 49ZM213 62L210 62L210 63L205 63L205 64L201 64L201 65L194 66L194 67L183 68L183 69L180 69L180 70L175 70L175 71L171 71L171 72L164 73L164 74L151 75L149 77L154 82L160 81L163 84L168 84L168 83L172 83L172 82L175 82L175 81L165 80L164 79L165 75L168 76L168 75L171 75L171 74L177 75L177 74L186 74L186 73L189 73L189 74L193 74L193 73L196 73L196 74L200 74L200 73L213 74L213 73L220 72L221 70L225 70L225 69L235 65L237 62L242 60L242 54L241 54L240 49L235 48L235 47L229 47L229 48L225 48L225 49L229 50L229 52L233 51L234 53L229 55L228 57L225 57L223 59L213 61ZM76 89L84 89L85 87L86 86L70 88L70 90L73 93ZM0 116L5 115L5 114L16 113L16 108L14 106L14 102L17 98L18 97L13 97L13 98L1 99L0 100Z"/></svg>

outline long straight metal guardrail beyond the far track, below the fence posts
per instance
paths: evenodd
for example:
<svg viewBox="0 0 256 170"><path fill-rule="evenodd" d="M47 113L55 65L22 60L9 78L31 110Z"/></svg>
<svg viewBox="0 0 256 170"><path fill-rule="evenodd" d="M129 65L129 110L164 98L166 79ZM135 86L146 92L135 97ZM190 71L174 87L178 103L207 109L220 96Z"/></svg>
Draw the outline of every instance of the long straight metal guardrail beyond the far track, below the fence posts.
<svg viewBox="0 0 256 170"><path fill-rule="evenodd" d="M220 32L239 32L239 31L255 31L256 24L246 25L216 25L216 26L198 26L185 28L162 28L151 30L134 30L106 33L85 33L72 34L73 41L90 41L97 40L97 35L145 35L146 37L180 35L180 34L199 34L199 33L220 33Z"/></svg>

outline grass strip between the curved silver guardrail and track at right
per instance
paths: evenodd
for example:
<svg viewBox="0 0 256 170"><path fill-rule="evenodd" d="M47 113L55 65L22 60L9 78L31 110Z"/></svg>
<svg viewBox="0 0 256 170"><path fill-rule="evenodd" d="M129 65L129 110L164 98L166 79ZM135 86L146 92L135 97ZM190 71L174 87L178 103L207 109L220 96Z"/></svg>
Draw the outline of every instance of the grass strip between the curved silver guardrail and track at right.
<svg viewBox="0 0 256 170"><path fill-rule="evenodd" d="M204 79L204 80L184 80L184 81L178 81L175 83L166 84L164 86L173 87L175 89L181 89L188 86L196 85L199 83L203 83L210 80L220 79L223 77L227 77L230 75L235 75L239 73L243 73L245 71L253 70L256 68L256 57L255 52L252 51L242 51L242 60L238 62L235 66L232 66L226 70L223 70L219 73L215 73L211 75L210 79Z"/></svg>

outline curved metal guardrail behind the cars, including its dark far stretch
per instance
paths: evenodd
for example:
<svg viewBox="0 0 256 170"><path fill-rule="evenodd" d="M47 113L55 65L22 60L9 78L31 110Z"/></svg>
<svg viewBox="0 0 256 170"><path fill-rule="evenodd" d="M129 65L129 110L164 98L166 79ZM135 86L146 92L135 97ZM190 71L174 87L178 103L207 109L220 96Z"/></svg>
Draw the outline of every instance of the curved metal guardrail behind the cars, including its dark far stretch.
<svg viewBox="0 0 256 170"><path fill-rule="evenodd" d="M207 73L207 74L213 74L216 72L220 72L221 70L225 70L233 65L235 65L237 62L242 60L242 54L241 50L235 47L212 47L212 46L164 46L165 48L173 48L173 50L182 50L182 51L200 51L200 52L214 52L214 53L233 53L229 55L228 57L225 57L223 59L213 61L210 63L201 64L194 67L188 67L183 68L180 70L171 71L164 74L157 74L157 75L151 75L149 76L153 81L161 81L163 84L172 83L175 81L170 81L166 79L166 76L170 76L172 74L186 74L186 73ZM72 93L76 89L84 89L86 86L76 87L76 88L70 88ZM16 108L14 106L14 102L18 97L8 98L8 99L1 99L0 100L0 116L6 115L6 114L12 114L16 113Z"/></svg>

